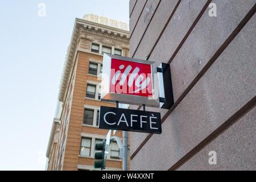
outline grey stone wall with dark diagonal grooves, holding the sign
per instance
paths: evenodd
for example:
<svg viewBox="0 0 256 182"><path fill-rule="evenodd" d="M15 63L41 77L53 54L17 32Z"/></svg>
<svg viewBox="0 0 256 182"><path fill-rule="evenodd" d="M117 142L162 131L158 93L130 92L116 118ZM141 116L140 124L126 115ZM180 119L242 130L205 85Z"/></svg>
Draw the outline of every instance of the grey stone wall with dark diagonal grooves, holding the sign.
<svg viewBox="0 0 256 182"><path fill-rule="evenodd" d="M130 135L131 170L256 169L255 3L130 0L130 57L169 63L175 101L146 107L162 134Z"/></svg>

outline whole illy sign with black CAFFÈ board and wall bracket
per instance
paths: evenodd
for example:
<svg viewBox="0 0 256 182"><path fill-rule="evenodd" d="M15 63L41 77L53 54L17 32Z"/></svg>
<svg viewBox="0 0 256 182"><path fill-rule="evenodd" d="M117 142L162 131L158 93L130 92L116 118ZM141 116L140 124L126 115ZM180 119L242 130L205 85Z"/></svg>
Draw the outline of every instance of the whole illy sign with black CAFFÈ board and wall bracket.
<svg viewBox="0 0 256 182"><path fill-rule="evenodd" d="M168 109L170 81L170 65L104 54L101 100ZM156 112L102 106L99 128L160 134L160 119Z"/></svg>

